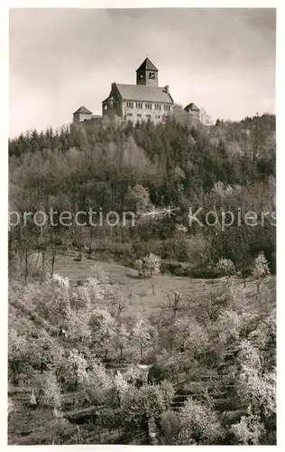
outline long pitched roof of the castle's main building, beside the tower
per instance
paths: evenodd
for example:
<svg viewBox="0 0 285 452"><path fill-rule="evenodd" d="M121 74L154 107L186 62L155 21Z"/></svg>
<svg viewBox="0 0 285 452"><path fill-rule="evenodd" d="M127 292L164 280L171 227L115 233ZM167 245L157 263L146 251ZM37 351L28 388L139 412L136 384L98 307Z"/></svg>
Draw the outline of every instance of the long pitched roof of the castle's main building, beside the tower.
<svg viewBox="0 0 285 452"><path fill-rule="evenodd" d="M170 93L167 93L162 87L124 85L122 83L116 83L115 86L123 100L173 103Z"/></svg>

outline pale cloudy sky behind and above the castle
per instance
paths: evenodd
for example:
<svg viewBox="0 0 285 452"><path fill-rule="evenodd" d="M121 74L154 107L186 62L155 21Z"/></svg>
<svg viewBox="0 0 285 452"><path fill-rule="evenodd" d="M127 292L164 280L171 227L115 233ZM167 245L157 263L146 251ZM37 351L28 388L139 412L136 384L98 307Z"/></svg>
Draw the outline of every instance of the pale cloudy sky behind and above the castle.
<svg viewBox="0 0 285 452"><path fill-rule="evenodd" d="M273 9L12 9L10 136L101 114L146 54L175 102L213 118L274 112Z"/></svg>

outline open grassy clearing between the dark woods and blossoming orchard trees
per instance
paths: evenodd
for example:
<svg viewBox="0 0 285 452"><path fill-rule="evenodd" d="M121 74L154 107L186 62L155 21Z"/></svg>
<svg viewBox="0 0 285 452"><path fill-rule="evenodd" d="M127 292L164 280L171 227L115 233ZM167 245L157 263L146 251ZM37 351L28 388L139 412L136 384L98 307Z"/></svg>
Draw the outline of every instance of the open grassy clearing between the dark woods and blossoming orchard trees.
<svg viewBox="0 0 285 452"><path fill-rule="evenodd" d="M76 261L70 256L60 255L55 265L55 272L61 276L68 277L73 284L92 277L92 266L102 268L110 277L110 280L118 284L124 295L130 297L129 309L126 315L156 316L161 313L161 308L169 305L169 295L179 291L183 298L181 306L188 306L193 310L198 308L199 303L219 289L225 287L225 281L221 279L203 279L177 277L170 274L159 275L152 279L137 277L137 271L127 268L115 262L92 261L82 259ZM152 293L152 282L154 283L154 294ZM237 283L243 287L242 279ZM275 304L275 278L270 277L268 288L271 292L271 304ZM256 288L252 279L247 281L244 288L249 306L255 306Z"/></svg>

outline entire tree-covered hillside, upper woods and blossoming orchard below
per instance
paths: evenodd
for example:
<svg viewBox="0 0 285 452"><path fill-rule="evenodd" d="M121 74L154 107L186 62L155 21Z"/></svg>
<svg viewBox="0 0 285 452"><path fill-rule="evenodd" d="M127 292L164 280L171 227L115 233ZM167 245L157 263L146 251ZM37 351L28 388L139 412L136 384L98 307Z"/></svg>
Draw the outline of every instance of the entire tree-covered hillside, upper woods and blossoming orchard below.
<svg viewBox="0 0 285 452"><path fill-rule="evenodd" d="M72 219L11 216L11 444L276 443L275 147L273 115L193 126L179 108L156 126L104 118L9 140L10 212ZM204 226L189 224L201 206ZM135 221L78 226L89 208ZM209 211L234 222L207 226ZM152 294L161 273L220 286L198 300L173 291L160 315L132 316L131 296L100 266L77 287L58 275L63 254L134 268ZM91 420L75 421L87 407Z"/></svg>

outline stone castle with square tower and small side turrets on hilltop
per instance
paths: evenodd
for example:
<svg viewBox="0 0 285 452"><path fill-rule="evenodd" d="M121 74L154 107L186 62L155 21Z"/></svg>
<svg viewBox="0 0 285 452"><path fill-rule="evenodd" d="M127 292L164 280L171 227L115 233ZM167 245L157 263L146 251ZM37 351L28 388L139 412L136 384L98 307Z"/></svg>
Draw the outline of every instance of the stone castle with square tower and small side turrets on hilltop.
<svg viewBox="0 0 285 452"><path fill-rule="evenodd" d="M136 70L136 85L114 83L108 97L102 102L102 117L105 115L122 118L133 123L152 120L163 121L172 111L174 100L170 87L159 86L159 70L149 58L146 58ZM191 118L198 120L199 108L193 102L184 108ZM73 113L73 122L102 118L93 115L86 107L80 107Z"/></svg>

